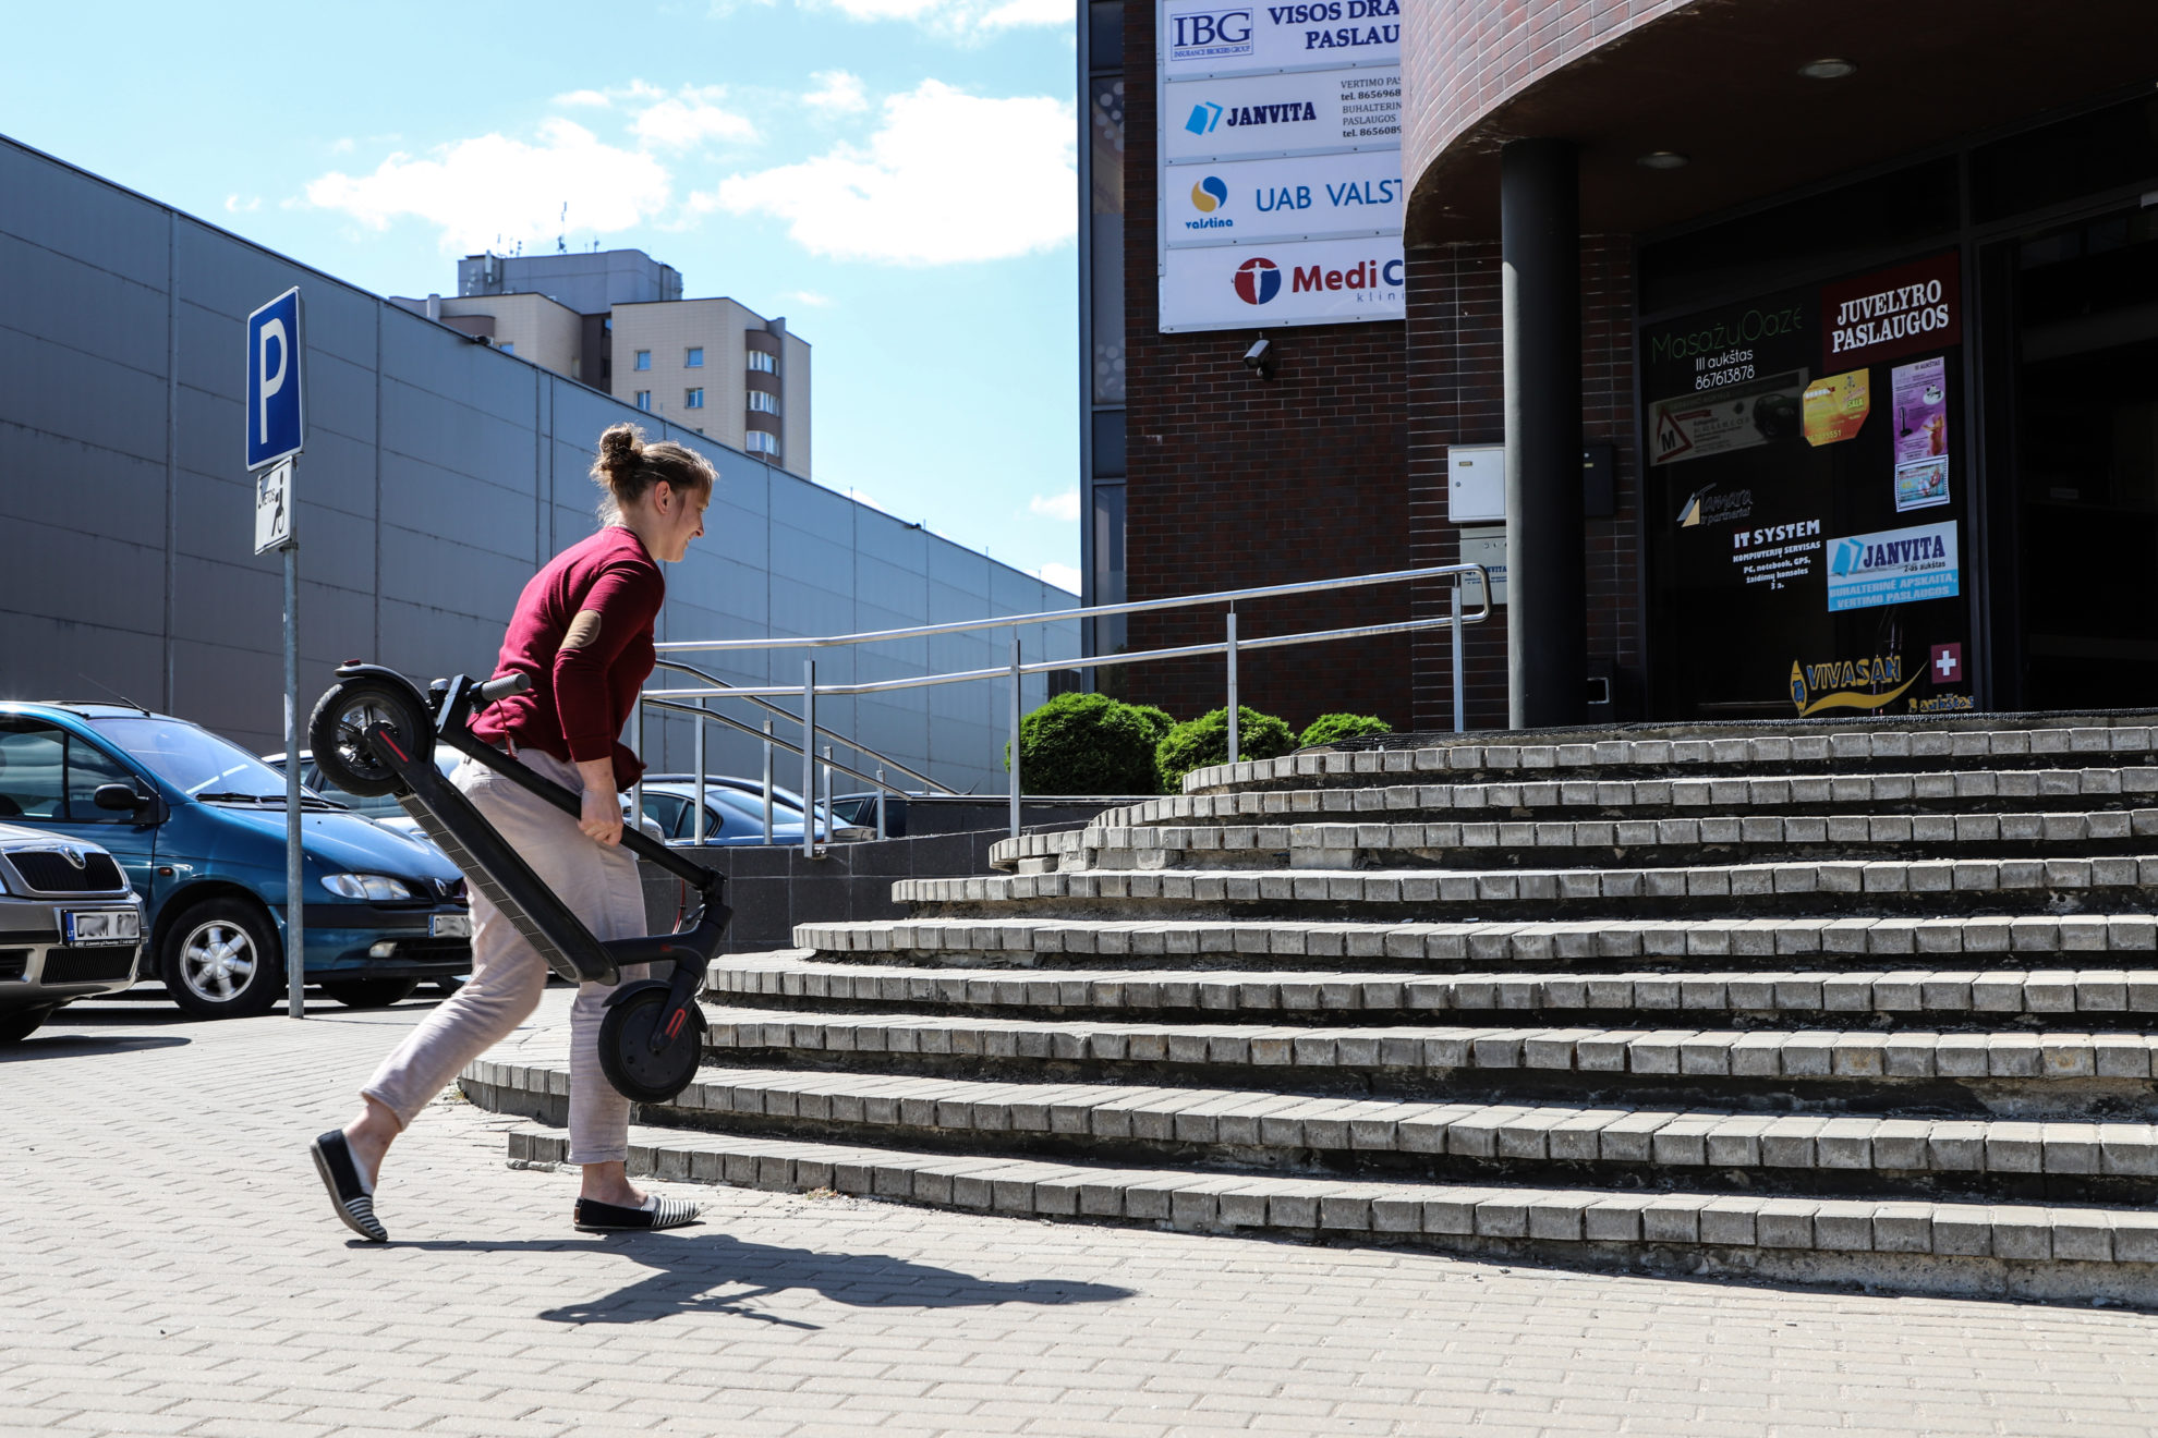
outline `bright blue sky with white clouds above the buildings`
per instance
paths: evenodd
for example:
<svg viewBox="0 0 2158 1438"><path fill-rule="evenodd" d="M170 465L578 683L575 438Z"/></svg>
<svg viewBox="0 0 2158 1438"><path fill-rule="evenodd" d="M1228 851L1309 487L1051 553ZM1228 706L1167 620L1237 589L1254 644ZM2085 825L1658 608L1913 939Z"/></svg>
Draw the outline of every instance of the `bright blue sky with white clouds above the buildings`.
<svg viewBox="0 0 2158 1438"><path fill-rule="evenodd" d="M1070 0L15 4L0 132L378 293L643 248L816 354L816 479L1077 589Z"/></svg>

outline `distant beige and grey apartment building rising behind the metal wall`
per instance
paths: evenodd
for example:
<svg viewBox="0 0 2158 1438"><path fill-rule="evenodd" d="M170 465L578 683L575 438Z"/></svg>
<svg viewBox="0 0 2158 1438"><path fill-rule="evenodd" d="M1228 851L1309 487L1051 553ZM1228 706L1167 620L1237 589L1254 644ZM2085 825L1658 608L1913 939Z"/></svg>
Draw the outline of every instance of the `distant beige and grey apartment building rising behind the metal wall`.
<svg viewBox="0 0 2158 1438"><path fill-rule="evenodd" d="M643 250L466 254L455 295L395 304L809 479L809 343Z"/></svg>

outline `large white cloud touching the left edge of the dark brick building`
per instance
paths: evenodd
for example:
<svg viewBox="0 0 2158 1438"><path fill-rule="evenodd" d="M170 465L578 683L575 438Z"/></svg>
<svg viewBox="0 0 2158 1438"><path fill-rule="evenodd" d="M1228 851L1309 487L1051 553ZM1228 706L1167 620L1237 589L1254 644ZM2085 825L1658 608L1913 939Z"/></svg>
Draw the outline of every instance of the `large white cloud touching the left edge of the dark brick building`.
<svg viewBox="0 0 2158 1438"><path fill-rule="evenodd" d="M1064 244L1075 183L1066 101L984 99L924 80L885 101L868 144L734 175L691 207L777 216L796 244L833 259L950 265Z"/></svg>

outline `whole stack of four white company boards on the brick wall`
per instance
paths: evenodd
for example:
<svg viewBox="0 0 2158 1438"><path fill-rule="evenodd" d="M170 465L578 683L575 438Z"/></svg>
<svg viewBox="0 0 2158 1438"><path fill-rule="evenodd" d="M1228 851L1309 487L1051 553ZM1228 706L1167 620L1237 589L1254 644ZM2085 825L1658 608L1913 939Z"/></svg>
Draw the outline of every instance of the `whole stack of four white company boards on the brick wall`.
<svg viewBox="0 0 2158 1438"><path fill-rule="evenodd" d="M1401 319L1401 9L1157 6L1161 332Z"/></svg>

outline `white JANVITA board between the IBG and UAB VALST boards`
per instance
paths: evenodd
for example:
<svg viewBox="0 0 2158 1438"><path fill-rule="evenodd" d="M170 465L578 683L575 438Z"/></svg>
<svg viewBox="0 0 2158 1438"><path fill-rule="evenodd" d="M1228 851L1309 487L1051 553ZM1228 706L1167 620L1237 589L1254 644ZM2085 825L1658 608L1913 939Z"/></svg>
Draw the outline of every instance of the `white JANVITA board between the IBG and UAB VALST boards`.
<svg viewBox="0 0 2158 1438"><path fill-rule="evenodd" d="M1170 164L1357 144L1398 155L1398 69L1319 69L1163 86L1161 153ZM1401 168L1398 157L1394 168Z"/></svg>

